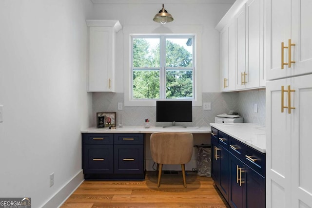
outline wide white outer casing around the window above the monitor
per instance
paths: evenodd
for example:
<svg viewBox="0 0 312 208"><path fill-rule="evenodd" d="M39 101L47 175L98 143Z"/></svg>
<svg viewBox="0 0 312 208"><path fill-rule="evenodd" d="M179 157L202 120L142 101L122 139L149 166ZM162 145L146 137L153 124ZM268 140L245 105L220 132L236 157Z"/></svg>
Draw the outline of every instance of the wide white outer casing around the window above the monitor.
<svg viewBox="0 0 312 208"><path fill-rule="evenodd" d="M192 100L193 106L201 106L201 92L202 92L202 77L201 77L201 34L202 26L199 25L187 25L187 26L133 26L125 25L123 28L124 34L124 106L156 106L156 100L164 99L132 99L132 86L133 86L133 71L132 71L132 38L143 37L147 38L159 37L161 35L182 38L183 36L194 37L193 47L193 98L167 98L165 100ZM161 49L160 49L161 50ZM159 68L160 69L160 68ZM171 67L169 68L171 69ZM182 68L183 69L183 68ZM163 70L165 72L165 70ZM161 75L160 75L161 76ZM160 83L160 86L162 83ZM164 83L163 83L164 86Z"/></svg>

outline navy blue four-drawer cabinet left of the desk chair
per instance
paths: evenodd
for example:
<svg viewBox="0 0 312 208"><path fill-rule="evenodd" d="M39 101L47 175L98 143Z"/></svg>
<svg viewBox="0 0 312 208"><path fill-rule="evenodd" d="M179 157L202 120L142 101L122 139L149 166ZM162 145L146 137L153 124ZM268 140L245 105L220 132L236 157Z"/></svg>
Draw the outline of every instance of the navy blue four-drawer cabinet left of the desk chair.
<svg viewBox="0 0 312 208"><path fill-rule="evenodd" d="M144 180L143 133L82 133L85 180Z"/></svg>

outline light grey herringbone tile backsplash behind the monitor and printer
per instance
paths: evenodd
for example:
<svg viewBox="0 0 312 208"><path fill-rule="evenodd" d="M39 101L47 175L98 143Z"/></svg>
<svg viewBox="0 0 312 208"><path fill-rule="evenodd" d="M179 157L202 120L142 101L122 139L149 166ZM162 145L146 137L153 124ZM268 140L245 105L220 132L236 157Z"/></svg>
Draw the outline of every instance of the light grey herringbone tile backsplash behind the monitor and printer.
<svg viewBox="0 0 312 208"><path fill-rule="evenodd" d="M117 110L118 102L124 103L123 93L93 93L93 126L96 126L97 112L116 112L122 116L124 126L143 126L144 119L149 118L152 126L171 125L156 122L156 107L127 107ZM265 125L265 90L229 93L203 93L202 102L211 102L211 110L193 107L193 122L176 123L185 126L208 126L215 122L215 116L230 110L244 117L244 122ZM254 113L254 103L258 104L258 113Z"/></svg>

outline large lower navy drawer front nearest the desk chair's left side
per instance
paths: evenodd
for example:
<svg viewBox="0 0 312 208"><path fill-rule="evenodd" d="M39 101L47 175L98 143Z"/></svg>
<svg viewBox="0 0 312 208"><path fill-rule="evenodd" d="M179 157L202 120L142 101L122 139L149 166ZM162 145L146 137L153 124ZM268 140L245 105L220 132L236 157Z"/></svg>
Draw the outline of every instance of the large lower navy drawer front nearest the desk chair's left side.
<svg viewBox="0 0 312 208"><path fill-rule="evenodd" d="M143 145L115 145L115 173L143 173Z"/></svg>

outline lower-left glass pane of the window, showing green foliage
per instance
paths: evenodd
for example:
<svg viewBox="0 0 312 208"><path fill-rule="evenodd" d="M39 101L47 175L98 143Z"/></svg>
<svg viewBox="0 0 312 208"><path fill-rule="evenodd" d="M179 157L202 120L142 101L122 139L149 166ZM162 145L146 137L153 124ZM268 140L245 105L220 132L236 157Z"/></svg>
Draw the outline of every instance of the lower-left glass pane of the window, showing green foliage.
<svg viewBox="0 0 312 208"><path fill-rule="evenodd" d="M133 70L133 98L159 98L159 70Z"/></svg>

